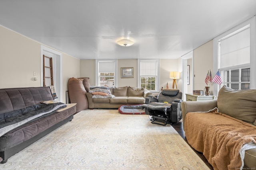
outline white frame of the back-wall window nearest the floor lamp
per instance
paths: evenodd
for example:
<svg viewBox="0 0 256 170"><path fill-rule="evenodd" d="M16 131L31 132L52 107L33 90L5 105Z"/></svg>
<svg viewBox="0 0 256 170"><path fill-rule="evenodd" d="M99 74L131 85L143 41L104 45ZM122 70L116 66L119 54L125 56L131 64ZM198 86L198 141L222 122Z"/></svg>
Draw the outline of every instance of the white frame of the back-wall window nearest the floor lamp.
<svg viewBox="0 0 256 170"><path fill-rule="evenodd" d="M160 62L159 59L138 59L138 87L141 87L141 77L147 76L147 75L140 75L140 63L145 61L155 61L156 62L156 76L150 76L150 77L156 77L156 90L149 90L150 92L158 92L159 90L159 82L160 82L160 76L159 76L159 70L160 70Z"/></svg>

